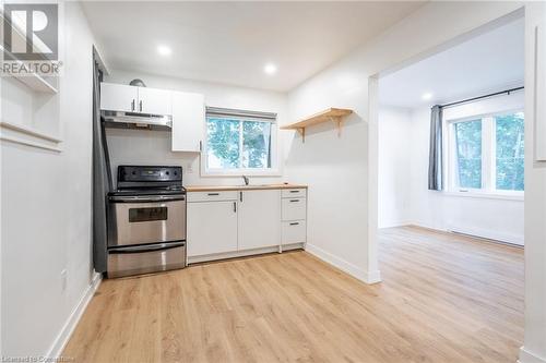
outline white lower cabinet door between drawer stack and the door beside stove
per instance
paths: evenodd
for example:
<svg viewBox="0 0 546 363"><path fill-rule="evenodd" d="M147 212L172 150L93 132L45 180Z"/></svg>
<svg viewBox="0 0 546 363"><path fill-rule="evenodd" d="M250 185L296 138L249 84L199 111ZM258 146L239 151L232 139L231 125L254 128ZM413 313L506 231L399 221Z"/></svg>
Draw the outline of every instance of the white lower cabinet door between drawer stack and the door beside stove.
<svg viewBox="0 0 546 363"><path fill-rule="evenodd" d="M239 192L239 251L278 245L281 191Z"/></svg>

